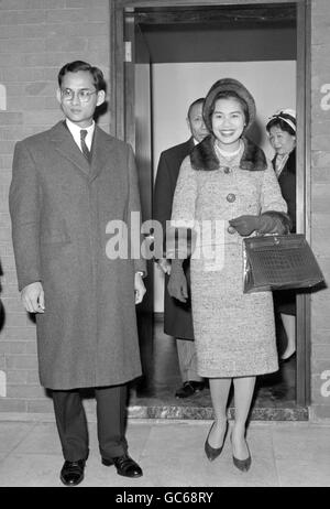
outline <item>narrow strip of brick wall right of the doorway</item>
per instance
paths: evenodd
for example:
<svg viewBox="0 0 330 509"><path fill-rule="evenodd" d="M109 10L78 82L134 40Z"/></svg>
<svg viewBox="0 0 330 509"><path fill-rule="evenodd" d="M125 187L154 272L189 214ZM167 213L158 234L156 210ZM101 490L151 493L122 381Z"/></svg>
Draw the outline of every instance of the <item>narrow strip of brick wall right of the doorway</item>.
<svg viewBox="0 0 330 509"><path fill-rule="evenodd" d="M330 282L330 3L311 2L311 242ZM311 304L311 418L330 420L330 290Z"/></svg>

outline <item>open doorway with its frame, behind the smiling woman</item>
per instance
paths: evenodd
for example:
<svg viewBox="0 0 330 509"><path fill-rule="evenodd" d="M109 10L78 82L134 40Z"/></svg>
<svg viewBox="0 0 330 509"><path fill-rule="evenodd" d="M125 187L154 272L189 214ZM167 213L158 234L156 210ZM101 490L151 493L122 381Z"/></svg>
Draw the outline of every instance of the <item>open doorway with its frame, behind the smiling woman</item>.
<svg viewBox="0 0 330 509"><path fill-rule="evenodd" d="M264 134L267 117L280 107L296 107L297 228L308 238L308 2L121 0L111 3L111 47L116 48L111 72L116 105L112 132L135 150L143 220L152 217L153 181L161 151L188 138L186 106L204 96L219 76L231 76L243 82L256 99L258 117L249 136L262 144L268 156L270 145ZM186 102L180 100L180 93L188 96ZM166 96L168 102L164 102ZM152 397L153 407L161 408L165 388L179 383L179 378L173 372L175 345L170 338L162 337L162 322L157 320L162 315L163 288L152 262L148 274L148 299L138 311L144 378L134 404L148 404ZM309 314L308 295L299 295L296 356L282 365L278 373L260 377L252 418L308 418ZM279 349L283 339L278 322ZM160 373L164 373L163 379ZM157 383L153 386L155 380ZM173 396L172 400L168 394L169 407L178 405L175 389L168 388ZM198 400L194 399L194 404L200 405L199 415L208 418L209 401L205 394ZM189 414L190 403L184 402L183 416Z"/></svg>

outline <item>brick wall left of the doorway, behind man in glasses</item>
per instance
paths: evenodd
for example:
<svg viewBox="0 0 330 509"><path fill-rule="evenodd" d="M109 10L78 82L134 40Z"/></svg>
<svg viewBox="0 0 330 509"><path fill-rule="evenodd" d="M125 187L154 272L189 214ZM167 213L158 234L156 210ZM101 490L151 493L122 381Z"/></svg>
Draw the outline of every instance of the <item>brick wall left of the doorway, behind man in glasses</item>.
<svg viewBox="0 0 330 509"><path fill-rule="evenodd" d="M62 118L55 90L66 62L90 62L109 78L109 0L0 1L0 412L52 411L38 383L35 326L16 290L8 212L13 147ZM109 113L100 124L109 131Z"/></svg>

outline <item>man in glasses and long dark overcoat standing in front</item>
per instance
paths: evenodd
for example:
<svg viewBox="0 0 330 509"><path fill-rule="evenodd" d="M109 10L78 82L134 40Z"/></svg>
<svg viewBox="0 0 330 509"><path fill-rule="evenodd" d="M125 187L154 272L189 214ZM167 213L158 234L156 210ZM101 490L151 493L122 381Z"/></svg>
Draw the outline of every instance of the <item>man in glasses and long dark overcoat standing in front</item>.
<svg viewBox="0 0 330 509"><path fill-rule="evenodd" d="M100 69L66 64L57 89L65 120L16 143L10 187L19 290L36 314L40 379L53 390L69 486L82 480L88 457L81 388L95 388L102 463L142 475L124 433L127 383L141 375L135 304L145 262L129 241L140 196L132 149L94 121L105 99ZM120 256L113 225L122 225Z"/></svg>

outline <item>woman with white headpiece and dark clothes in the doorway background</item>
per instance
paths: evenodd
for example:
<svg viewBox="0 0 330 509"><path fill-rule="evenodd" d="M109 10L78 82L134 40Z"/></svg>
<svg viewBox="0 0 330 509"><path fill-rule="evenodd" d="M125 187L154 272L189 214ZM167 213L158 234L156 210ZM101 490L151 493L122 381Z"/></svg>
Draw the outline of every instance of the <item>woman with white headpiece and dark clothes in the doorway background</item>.
<svg viewBox="0 0 330 509"><path fill-rule="evenodd" d="M270 142L275 150L272 161L282 195L287 203L288 215L296 231L296 111L283 109L271 117L266 126ZM296 351L296 292L293 290L273 293L275 312L280 314L287 336L287 347L280 356L289 359Z"/></svg>

